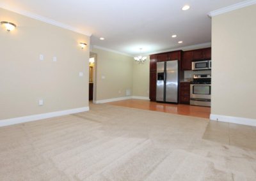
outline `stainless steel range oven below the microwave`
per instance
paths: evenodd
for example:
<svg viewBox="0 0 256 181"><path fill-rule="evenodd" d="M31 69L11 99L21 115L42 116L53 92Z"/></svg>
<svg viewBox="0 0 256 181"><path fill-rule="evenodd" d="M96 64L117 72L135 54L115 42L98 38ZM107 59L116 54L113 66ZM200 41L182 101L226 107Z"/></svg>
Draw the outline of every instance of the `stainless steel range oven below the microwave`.
<svg viewBox="0 0 256 181"><path fill-rule="evenodd" d="M211 106L211 75L194 75L190 83L190 105Z"/></svg>

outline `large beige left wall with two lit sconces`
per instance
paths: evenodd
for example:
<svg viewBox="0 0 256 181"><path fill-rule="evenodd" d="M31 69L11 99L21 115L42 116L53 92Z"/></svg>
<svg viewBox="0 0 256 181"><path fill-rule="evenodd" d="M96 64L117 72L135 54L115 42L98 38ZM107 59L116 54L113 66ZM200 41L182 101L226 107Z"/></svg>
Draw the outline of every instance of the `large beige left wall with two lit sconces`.
<svg viewBox="0 0 256 181"><path fill-rule="evenodd" d="M1 8L0 20L18 25L10 33L0 28L0 120L88 106L88 36Z"/></svg>

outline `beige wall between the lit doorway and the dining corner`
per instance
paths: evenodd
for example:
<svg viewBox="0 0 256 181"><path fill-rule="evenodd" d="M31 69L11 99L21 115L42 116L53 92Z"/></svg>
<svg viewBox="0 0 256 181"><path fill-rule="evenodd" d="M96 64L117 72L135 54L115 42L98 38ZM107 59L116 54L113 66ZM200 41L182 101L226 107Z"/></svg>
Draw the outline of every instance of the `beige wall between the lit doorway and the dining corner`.
<svg viewBox="0 0 256 181"><path fill-rule="evenodd" d="M98 48L93 48L92 52L97 54L94 101L125 97L127 89L132 95L133 58Z"/></svg>

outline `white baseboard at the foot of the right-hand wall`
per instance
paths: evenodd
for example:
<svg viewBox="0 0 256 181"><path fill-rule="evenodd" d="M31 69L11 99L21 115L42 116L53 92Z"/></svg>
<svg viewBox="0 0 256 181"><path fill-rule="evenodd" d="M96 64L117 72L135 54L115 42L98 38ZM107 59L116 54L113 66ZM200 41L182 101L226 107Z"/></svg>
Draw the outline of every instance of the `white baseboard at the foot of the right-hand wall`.
<svg viewBox="0 0 256 181"><path fill-rule="evenodd" d="M221 121L221 122L230 122L235 124L244 124L248 126L256 126L256 119L248 119L244 117L231 117L227 115L210 115L211 120Z"/></svg>

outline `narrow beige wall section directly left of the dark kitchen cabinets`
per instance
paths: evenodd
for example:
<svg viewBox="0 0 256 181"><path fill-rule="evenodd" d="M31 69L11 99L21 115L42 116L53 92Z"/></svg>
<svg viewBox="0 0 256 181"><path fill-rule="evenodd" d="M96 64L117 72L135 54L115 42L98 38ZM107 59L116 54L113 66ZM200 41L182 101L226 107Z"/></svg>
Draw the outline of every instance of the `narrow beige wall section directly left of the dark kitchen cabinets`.
<svg viewBox="0 0 256 181"><path fill-rule="evenodd" d="M133 61L133 94L132 96L149 97L149 56L144 64Z"/></svg>

